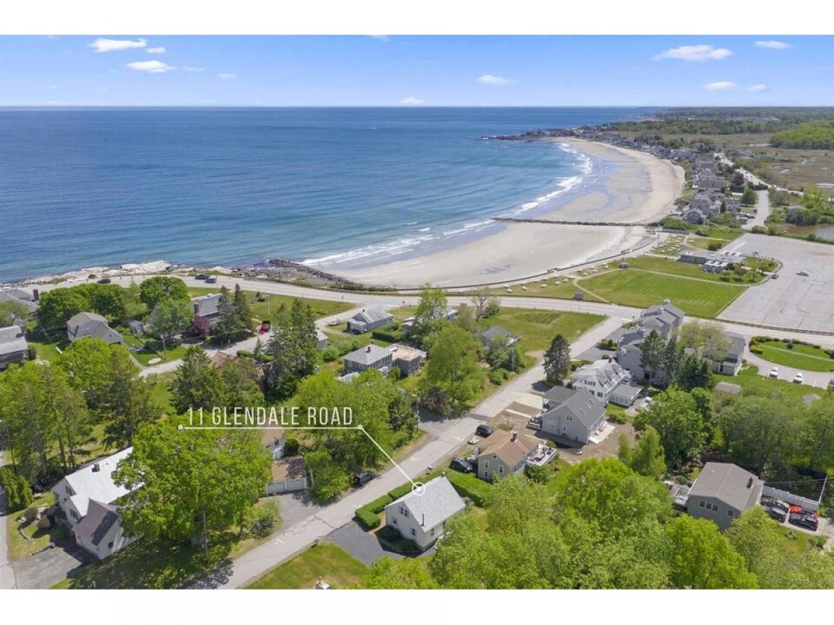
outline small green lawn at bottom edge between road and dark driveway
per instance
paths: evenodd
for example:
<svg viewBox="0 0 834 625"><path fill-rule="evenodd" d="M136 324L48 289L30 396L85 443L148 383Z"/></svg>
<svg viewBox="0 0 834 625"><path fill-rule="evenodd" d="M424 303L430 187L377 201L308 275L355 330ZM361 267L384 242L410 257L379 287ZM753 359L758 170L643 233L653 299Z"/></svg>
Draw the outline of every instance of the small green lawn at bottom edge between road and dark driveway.
<svg viewBox="0 0 834 625"><path fill-rule="evenodd" d="M334 589L356 587L367 567L332 542L319 542L279 564L247 588L258 590L312 589L319 577Z"/></svg>

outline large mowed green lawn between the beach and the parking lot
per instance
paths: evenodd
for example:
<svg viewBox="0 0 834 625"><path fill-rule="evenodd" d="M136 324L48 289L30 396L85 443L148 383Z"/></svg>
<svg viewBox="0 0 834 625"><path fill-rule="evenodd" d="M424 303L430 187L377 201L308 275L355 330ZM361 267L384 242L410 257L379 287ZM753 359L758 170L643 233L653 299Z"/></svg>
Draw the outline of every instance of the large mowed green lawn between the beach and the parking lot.
<svg viewBox="0 0 834 625"><path fill-rule="evenodd" d="M706 318L715 317L745 289L735 284L709 283L631 269L585 278L580 283L613 303L646 308L668 298L685 313Z"/></svg>

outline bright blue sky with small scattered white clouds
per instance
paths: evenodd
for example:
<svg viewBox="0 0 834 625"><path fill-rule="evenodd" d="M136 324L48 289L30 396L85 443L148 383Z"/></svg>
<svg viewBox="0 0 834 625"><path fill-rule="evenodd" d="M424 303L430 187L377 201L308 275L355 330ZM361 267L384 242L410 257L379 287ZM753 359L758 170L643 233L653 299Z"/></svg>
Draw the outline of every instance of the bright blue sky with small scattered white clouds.
<svg viewBox="0 0 834 625"><path fill-rule="evenodd" d="M834 37L0 37L3 106L832 104Z"/></svg>

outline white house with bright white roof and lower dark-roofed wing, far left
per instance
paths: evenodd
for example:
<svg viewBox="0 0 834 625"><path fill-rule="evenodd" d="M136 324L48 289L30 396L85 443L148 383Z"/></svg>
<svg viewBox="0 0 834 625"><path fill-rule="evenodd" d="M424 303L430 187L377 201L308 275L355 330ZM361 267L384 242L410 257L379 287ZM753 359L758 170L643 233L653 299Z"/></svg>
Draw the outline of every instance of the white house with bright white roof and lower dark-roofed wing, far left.
<svg viewBox="0 0 834 625"><path fill-rule="evenodd" d="M132 492L113 482L113 471L118 462L132 451L133 448L123 449L88 464L70 473L52 488L55 502L73 526L78 546L98 558L108 557L138 539L138 536L124 536L121 518L113 505Z"/></svg>

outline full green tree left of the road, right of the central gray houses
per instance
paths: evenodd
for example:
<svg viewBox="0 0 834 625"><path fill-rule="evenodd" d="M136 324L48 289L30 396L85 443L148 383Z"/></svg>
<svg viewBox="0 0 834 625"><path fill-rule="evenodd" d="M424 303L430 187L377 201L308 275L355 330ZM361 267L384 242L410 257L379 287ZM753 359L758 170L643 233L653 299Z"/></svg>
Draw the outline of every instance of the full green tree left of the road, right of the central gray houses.
<svg viewBox="0 0 834 625"><path fill-rule="evenodd" d="M455 410L462 411L483 385L484 372L478 363L475 337L455 325L437 333L429 353L429 363L420 379L424 395L437 388L450 398Z"/></svg>

